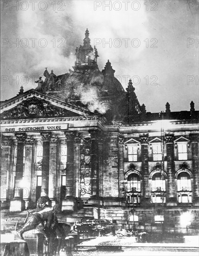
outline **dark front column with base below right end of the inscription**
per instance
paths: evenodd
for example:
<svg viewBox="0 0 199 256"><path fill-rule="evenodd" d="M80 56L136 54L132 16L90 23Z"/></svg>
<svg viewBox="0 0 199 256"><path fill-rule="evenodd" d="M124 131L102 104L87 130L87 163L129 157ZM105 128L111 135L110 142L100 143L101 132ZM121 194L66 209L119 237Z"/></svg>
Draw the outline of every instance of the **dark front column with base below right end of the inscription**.
<svg viewBox="0 0 199 256"><path fill-rule="evenodd" d="M62 211L75 211L77 201L74 198L74 138L77 132L65 132L67 140L67 163L66 163L66 196L62 201Z"/></svg>

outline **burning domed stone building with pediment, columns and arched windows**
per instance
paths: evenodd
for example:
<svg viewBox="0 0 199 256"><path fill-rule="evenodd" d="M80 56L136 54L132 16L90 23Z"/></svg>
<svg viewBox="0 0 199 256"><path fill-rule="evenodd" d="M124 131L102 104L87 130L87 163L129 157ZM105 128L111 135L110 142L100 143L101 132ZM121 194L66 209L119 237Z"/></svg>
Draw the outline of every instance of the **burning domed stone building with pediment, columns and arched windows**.
<svg viewBox="0 0 199 256"><path fill-rule="evenodd" d="M125 92L109 61L99 71L88 35L86 30L84 46L76 50L73 72L57 77L45 71L42 89L2 102L1 207L22 211L46 196L79 218L110 219L140 230L161 223L170 232L194 232L199 210L194 103L186 113L171 112L168 102L162 116L147 113L132 81ZM94 53L93 59L84 51ZM78 79L107 100L97 100L97 108L80 102Z"/></svg>

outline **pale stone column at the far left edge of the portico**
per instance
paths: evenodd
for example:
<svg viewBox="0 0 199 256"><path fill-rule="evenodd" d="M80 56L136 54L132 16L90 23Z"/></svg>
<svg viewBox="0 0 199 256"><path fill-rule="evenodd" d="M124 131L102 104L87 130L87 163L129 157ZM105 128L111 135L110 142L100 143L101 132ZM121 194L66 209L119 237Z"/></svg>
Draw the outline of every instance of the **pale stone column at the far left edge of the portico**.
<svg viewBox="0 0 199 256"><path fill-rule="evenodd" d="M0 201L1 201L1 207L7 208L7 199L9 198L9 188L8 188L8 177L10 170L10 162L11 162L11 146L12 141L9 140L6 137L2 138L1 143L1 162L0 162L0 172L1 172L1 178L0 178Z"/></svg>

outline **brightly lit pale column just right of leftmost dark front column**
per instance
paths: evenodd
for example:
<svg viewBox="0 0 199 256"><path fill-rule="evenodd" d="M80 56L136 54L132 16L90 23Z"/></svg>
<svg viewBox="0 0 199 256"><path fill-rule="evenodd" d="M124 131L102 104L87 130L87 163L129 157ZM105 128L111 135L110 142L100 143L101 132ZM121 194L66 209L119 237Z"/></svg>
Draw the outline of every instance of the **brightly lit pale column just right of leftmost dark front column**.
<svg viewBox="0 0 199 256"><path fill-rule="evenodd" d="M31 202L31 173L33 159L33 138L27 137L25 142L25 164L24 164L24 181L23 181L23 199L26 208Z"/></svg>

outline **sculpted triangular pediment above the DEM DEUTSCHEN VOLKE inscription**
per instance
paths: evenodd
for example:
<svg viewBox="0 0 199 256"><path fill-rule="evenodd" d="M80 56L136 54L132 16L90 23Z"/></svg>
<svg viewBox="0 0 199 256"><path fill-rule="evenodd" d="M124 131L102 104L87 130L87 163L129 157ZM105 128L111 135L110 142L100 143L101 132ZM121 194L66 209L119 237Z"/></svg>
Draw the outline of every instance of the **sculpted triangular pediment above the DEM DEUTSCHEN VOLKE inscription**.
<svg viewBox="0 0 199 256"><path fill-rule="evenodd" d="M60 98L33 89L5 101L0 111L1 120L93 115L86 108L74 106Z"/></svg>

